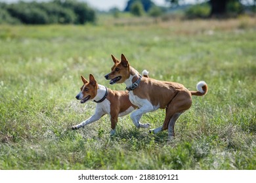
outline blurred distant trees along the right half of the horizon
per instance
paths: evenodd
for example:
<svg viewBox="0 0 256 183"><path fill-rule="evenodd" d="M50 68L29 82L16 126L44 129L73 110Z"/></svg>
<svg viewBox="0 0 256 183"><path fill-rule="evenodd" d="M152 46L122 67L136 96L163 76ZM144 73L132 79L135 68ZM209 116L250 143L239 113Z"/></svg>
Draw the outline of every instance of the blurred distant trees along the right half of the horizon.
<svg viewBox="0 0 256 183"><path fill-rule="evenodd" d="M178 9L186 3L184 0L165 0L171 9ZM226 17L238 16L244 13L245 5L243 0L205 0L203 3L188 8L180 8L187 18L209 18L209 17ZM202 1L201 1L202 2ZM253 0L251 12L255 12L256 0ZM163 12L168 11L167 8L157 7L151 0L129 0L125 7L126 12L131 12L135 16L149 14L150 16L160 16Z"/></svg>

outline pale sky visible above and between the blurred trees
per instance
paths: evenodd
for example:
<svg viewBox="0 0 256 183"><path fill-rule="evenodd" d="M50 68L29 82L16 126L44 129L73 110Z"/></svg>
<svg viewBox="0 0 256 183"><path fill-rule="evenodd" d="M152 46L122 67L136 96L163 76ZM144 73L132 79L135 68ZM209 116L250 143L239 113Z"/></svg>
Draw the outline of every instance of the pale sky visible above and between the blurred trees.
<svg viewBox="0 0 256 183"><path fill-rule="evenodd" d="M19 0L0 0L0 2L13 3ZM23 1L50 1L50 0L23 0ZM117 7L119 10L123 10L128 0L80 0L87 2L91 7L98 10L109 10L110 8ZM152 0L156 5L166 6L165 0ZM196 3L203 0L184 0L184 3ZM253 0L244 0L251 2Z"/></svg>

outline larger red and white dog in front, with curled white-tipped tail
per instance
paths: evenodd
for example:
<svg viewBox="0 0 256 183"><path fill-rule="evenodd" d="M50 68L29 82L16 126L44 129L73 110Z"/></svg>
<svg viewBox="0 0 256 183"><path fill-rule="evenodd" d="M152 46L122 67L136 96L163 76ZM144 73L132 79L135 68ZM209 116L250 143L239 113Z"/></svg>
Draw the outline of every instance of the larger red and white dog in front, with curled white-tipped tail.
<svg viewBox="0 0 256 183"><path fill-rule="evenodd" d="M168 136L175 136L175 122L179 116L192 105L192 95L202 96L207 93L207 84L198 82L198 91L189 91L182 84L146 78L139 75L129 61L121 54L121 61L112 56L114 66L105 76L110 84L125 83L129 91L129 100L139 107L131 113L131 120L137 127L149 128L150 124L140 124L142 114L158 108L165 108L165 120L161 127L150 132L158 133L168 129Z"/></svg>

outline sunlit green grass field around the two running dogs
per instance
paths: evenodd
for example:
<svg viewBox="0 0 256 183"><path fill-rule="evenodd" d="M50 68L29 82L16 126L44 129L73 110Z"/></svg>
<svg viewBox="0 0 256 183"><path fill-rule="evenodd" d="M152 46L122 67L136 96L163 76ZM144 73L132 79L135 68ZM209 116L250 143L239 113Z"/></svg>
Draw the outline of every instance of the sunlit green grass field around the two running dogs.
<svg viewBox="0 0 256 183"><path fill-rule="evenodd" d="M0 25L0 169L256 169L256 18L170 22L108 19L98 25ZM75 95L80 75L104 75L111 54L150 77L190 90L205 80L175 125L176 138L108 116L84 129L95 103ZM152 128L164 110L142 116Z"/></svg>

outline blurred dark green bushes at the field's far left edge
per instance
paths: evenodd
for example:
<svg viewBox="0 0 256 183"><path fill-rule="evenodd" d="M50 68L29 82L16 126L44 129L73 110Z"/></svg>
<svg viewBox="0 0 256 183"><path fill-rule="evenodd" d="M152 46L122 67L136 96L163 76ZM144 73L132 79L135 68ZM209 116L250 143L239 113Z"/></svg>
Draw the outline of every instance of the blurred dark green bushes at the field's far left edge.
<svg viewBox="0 0 256 183"><path fill-rule="evenodd" d="M0 24L85 24L95 20L95 10L79 1L0 3Z"/></svg>

